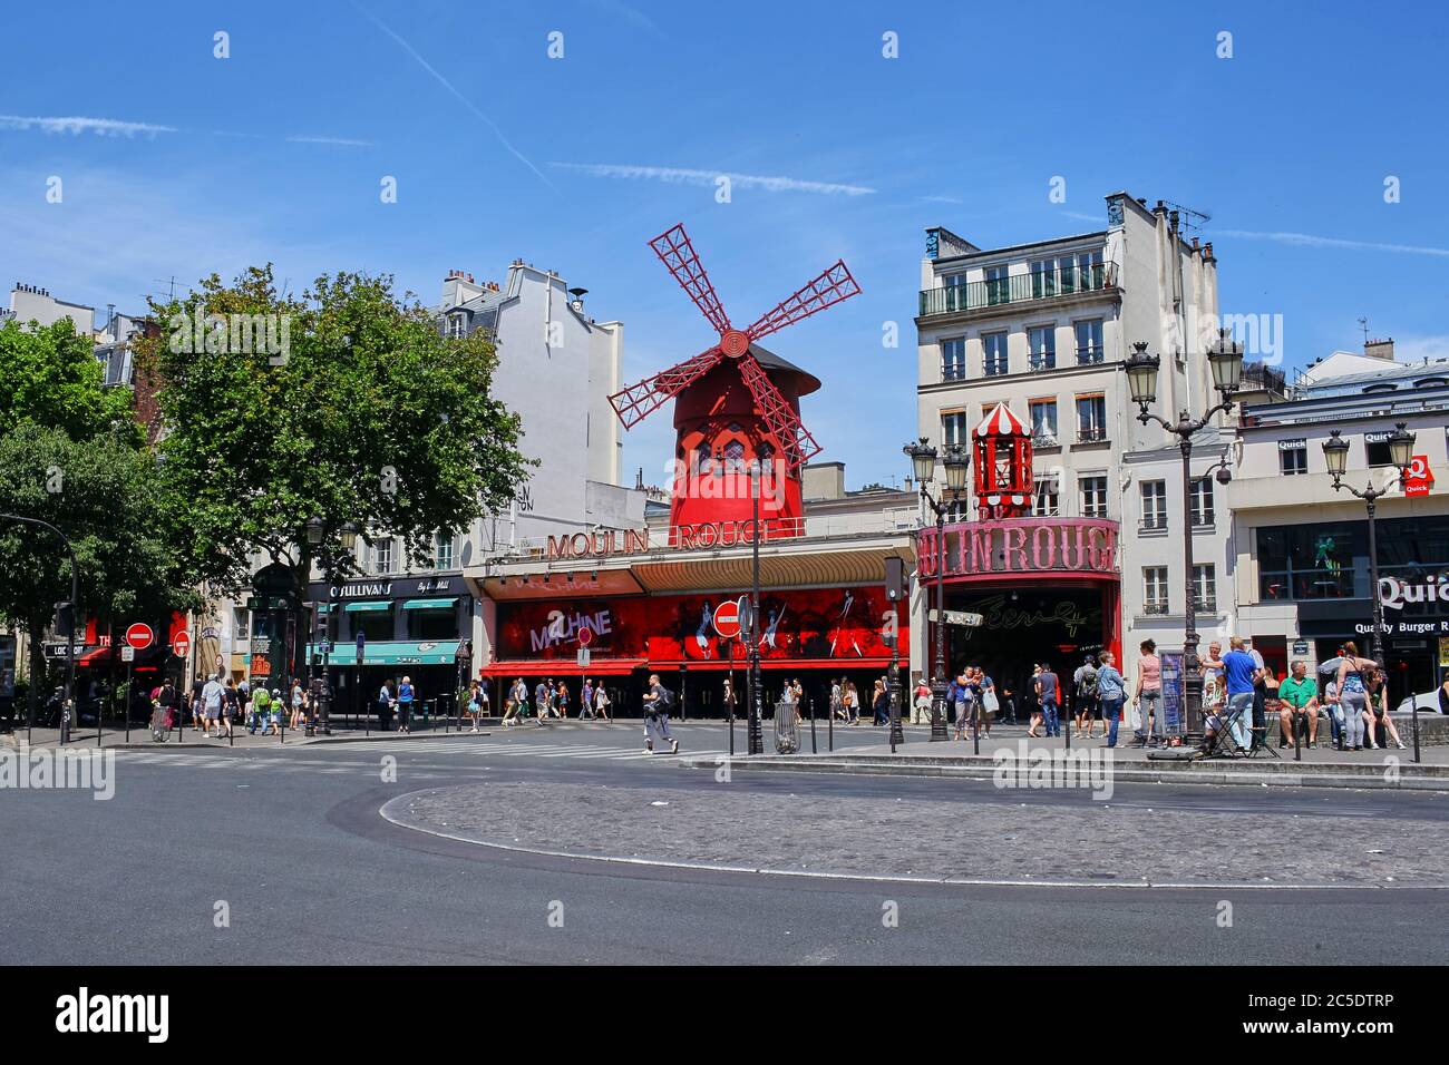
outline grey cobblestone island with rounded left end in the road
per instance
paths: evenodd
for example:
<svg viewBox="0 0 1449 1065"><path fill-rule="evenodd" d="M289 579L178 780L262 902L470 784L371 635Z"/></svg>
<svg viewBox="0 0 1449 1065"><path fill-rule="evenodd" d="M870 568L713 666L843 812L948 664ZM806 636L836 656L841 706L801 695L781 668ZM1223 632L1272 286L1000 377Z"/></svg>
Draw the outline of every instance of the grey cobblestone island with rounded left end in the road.
<svg viewBox="0 0 1449 1065"><path fill-rule="evenodd" d="M767 795L727 784L684 791L500 782L401 795L384 816L529 851L768 871L1022 882L1449 884L1449 824L1427 811L1424 819L1339 816L1327 797L1314 800L1321 813L1245 814L1219 795L1194 810L1161 810L1142 791L1129 804L1094 801L1090 791L1065 803L1017 803L987 782L962 782L956 794L903 801Z"/></svg>

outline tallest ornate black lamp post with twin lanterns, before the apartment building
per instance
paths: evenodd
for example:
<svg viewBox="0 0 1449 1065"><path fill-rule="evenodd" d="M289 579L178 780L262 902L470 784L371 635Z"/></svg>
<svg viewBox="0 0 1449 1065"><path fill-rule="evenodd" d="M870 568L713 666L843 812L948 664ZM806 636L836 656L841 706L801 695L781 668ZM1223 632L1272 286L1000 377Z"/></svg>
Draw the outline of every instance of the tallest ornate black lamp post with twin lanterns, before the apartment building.
<svg viewBox="0 0 1449 1065"><path fill-rule="evenodd" d="M1148 410L1158 398L1158 369L1162 359L1156 355L1148 355L1146 342L1133 343L1132 348L1132 356L1124 367L1132 401L1137 404L1137 420L1142 425L1156 422L1174 433L1182 452L1182 584L1187 601L1182 633L1182 713L1185 717L1184 732L1188 736L1201 736L1203 664L1197 656L1197 585L1193 580L1193 433L1206 426L1214 414L1233 409L1233 394L1243 378L1243 349L1229 339L1229 330L1217 330L1217 345L1207 352L1207 364L1213 371L1213 387L1223 398L1198 419L1194 419L1187 410L1179 410L1178 420L1174 423ZM1226 465L1217 472L1219 483L1226 484L1224 474L1229 480L1232 478Z"/></svg>

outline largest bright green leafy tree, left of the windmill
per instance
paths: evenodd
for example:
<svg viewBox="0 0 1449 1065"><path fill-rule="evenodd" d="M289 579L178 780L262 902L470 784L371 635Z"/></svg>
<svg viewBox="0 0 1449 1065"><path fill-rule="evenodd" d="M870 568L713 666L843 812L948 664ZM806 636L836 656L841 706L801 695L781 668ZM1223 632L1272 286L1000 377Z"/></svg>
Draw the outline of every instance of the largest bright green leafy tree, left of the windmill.
<svg viewBox="0 0 1449 1065"><path fill-rule="evenodd" d="M256 552L298 590L322 551L346 572L349 522L403 536L422 564L435 532L506 507L527 475L519 417L490 397L491 343L442 336L387 275L323 275L293 298L271 265L254 267L152 313L162 329L138 345L138 368L158 385L184 555L217 590L241 591ZM320 546L306 536L314 517Z"/></svg>

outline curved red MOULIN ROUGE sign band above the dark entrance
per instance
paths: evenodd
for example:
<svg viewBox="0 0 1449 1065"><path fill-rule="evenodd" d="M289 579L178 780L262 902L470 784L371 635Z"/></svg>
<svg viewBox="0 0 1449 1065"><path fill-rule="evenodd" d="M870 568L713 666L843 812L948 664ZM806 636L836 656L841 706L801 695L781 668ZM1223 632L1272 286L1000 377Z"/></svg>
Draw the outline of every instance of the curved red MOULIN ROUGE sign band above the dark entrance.
<svg viewBox="0 0 1449 1065"><path fill-rule="evenodd" d="M945 527L946 577L993 574L1117 574L1119 525L1104 517L1010 517ZM935 577L933 527L916 535L922 577Z"/></svg>

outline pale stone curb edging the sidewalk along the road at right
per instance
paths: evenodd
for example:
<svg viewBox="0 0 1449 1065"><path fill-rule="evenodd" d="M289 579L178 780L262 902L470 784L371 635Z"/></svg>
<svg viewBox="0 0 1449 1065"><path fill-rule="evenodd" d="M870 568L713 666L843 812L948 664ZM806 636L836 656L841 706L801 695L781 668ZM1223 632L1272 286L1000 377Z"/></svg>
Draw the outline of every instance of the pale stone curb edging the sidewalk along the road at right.
<svg viewBox="0 0 1449 1065"><path fill-rule="evenodd" d="M865 762L856 759L801 759L782 761L771 756L755 758L684 758L678 762L687 769L717 769L729 765L730 772L749 769L752 772L806 772L806 774L836 774L842 777L951 777L958 780L995 780L998 767L993 764L974 765L965 762ZM1116 782L1129 784L1206 784L1222 785L1236 784L1248 787L1284 787L1284 788L1364 788L1390 791L1440 791L1449 793L1449 774L1426 775L1404 767L1398 780L1388 780L1382 772L1375 774L1342 774L1332 772L1339 767L1326 767L1308 772L1277 771L1277 772L1243 772L1233 769L1122 769L1113 768L1111 778ZM1417 767L1414 767L1417 768ZM1445 767L1429 767L1442 769Z"/></svg>

